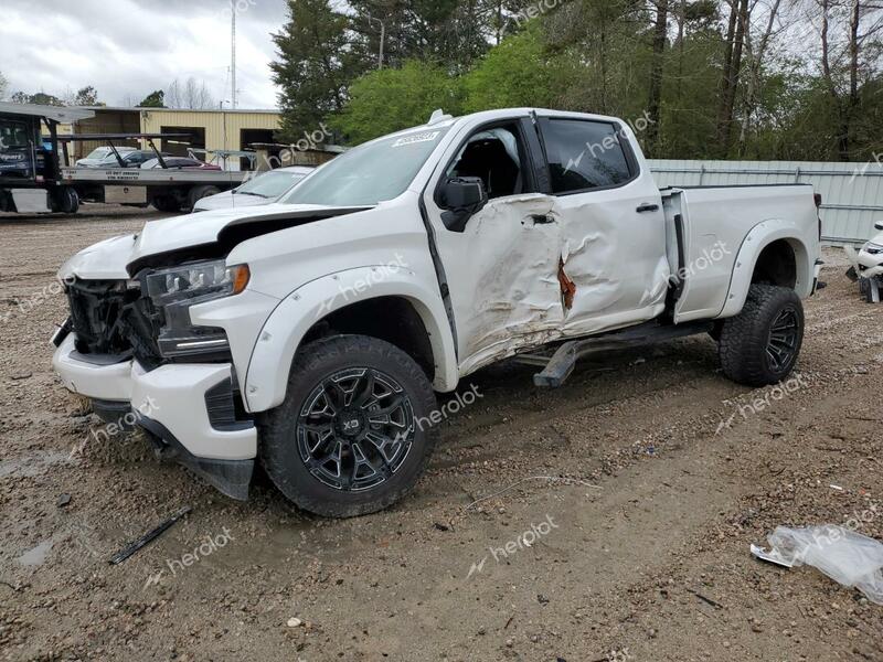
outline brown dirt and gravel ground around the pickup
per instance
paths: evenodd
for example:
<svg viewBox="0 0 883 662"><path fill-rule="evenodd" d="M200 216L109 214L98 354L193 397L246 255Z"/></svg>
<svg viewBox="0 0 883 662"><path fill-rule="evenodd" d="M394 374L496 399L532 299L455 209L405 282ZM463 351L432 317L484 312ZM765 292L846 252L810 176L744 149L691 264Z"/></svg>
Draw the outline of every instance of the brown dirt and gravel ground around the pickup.
<svg viewBox="0 0 883 662"><path fill-rule="evenodd" d="M708 338L586 361L558 391L504 364L462 385L481 397L409 499L323 521L263 476L227 500L57 384L55 270L159 217L98 209L0 217L0 659L883 660L883 607L748 554L855 514L883 538L883 309L841 265L786 388L730 383Z"/></svg>

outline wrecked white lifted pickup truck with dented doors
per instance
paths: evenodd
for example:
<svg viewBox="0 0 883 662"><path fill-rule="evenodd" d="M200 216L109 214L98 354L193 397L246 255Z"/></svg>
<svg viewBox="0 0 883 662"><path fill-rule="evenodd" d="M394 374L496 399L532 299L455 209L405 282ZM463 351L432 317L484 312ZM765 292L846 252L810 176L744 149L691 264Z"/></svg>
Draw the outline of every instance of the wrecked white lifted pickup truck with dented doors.
<svg viewBox="0 0 883 662"><path fill-rule="evenodd" d="M81 252L53 364L230 496L259 460L305 510L369 513L424 471L435 393L504 359L555 386L587 352L709 333L730 378L784 380L818 204L807 185L660 191L611 117L437 111L277 204Z"/></svg>

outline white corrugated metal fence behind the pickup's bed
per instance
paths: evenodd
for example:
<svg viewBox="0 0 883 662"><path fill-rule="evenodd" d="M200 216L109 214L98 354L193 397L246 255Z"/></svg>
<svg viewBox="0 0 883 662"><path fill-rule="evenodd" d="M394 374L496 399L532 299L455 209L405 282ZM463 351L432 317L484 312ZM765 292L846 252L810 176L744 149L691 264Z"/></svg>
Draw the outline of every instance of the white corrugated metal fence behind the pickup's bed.
<svg viewBox="0 0 883 662"><path fill-rule="evenodd" d="M813 161L680 161L651 159L660 188L733 184L812 184L821 193L822 238L855 244L883 220L883 163Z"/></svg>

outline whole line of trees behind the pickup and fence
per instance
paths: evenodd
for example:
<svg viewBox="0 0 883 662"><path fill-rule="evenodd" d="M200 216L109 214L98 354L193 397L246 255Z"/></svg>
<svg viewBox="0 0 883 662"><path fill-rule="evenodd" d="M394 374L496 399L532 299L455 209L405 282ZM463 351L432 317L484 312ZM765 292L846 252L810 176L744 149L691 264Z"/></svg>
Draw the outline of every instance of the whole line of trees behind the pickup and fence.
<svg viewBox="0 0 883 662"><path fill-rule="evenodd" d="M288 0L280 138L359 143L451 114L645 117L656 158L883 151L879 0Z"/></svg>

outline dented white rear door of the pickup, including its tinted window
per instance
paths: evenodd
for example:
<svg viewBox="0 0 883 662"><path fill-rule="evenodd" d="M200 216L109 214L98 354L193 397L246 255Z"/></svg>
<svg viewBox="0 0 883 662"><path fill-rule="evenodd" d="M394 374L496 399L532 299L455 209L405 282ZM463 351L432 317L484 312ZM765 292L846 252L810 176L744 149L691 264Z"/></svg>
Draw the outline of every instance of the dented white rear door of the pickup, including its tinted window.
<svg viewBox="0 0 883 662"><path fill-rule="evenodd" d="M566 335L625 327L664 309L670 267L659 189L618 120L540 118L560 225Z"/></svg>

